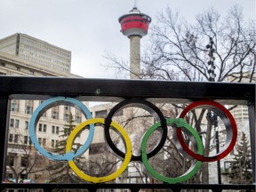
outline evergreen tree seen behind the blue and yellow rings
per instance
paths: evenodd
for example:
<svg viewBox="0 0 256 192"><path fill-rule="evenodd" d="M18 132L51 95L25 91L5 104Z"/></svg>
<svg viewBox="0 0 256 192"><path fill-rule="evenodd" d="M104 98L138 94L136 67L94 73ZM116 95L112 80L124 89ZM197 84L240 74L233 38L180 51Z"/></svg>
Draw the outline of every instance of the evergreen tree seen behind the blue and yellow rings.
<svg viewBox="0 0 256 192"><path fill-rule="evenodd" d="M68 136L70 132L74 130L76 125L74 124L74 119L72 114L69 114L69 118L67 121L67 124L64 125L63 130L60 131L60 140L56 144L56 146L53 148L54 153L56 154L65 154L66 153L66 143L68 140ZM80 147L79 143L74 142L72 150L76 151L77 148ZM74 161L76 164L81 164L82 157L77 156ZM71 168L68 165L67 161L54 161L52 162L52 169L49 170L51 173L51 183L81 183L83 180L81 180L79 177L76 176L76 174L71 170Z"/></svg>

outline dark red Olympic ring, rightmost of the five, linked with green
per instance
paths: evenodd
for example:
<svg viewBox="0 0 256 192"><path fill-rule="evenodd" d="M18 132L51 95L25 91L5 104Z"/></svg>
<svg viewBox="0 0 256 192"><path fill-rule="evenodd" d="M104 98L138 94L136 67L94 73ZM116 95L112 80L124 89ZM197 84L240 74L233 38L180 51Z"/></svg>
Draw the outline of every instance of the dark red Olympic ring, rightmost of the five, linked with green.
<svg viewBox="0 0 256 192"><path fill-rule="evenodd" d="M236 128L236 121L234 117L230 114L228 109L220 105L220 103L210 101L210 100L206 100L206 101L204 100L204 101L196 101L188 105L188 107L184 108L184 110L181 112L180 118L184 118L184 116L186 116L189 110L192 110L195 108L211 109L215 114L220 116L227 130L227 140L226 140L225 146L215 156L202 156L200 154L196 154L188 148L188 146L182 139L181 130L177 129L177 137L181 147L184 149L184 151L186 151L186 153L188 153L189 156L192 156L196 160L203 161L203 162L218 161L221 158L228 156L228 154L232 151L232 149L236 145L237 128Z"/></svg>

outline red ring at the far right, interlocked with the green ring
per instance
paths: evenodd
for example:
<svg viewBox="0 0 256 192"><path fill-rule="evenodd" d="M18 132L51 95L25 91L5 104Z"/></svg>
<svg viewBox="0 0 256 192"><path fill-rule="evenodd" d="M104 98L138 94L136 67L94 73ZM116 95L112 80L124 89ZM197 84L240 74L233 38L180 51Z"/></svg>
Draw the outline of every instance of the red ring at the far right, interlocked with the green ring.
<svg viewBox="0 0 256 192"><path fill-rule="evenodd" d="M215 156L198 155L198 154L194 153L190 148L188 148L187 144L183 140L181 129L178 128L177 129L177 137L178 137L178 140L180 142L180 146L183 148L183 150L186 153L188 153L189 156L192 156L193 158L195 158L198 161L202 161L202 162L218 161L221 158L223 158L225 156L228 156L228 154L232 151L232 149L236 145L236 138L237 138L236 121L235 121L234 117L230 114L230 112L228 111L227 108L220 105L220 103L210 101L210 100L200 100L200 101L196 101L196 102L193 102L193 103L189 104L188 107L184 108L184 110L180 113L179 117L184 118L184 116L186 116L188 111L190 111L194 108L199 108L199 107L201 107L201 108L204 108L204 107L209 108L210 107L213 111L214 111L214 109L215 110L217 109L219 112L223 113L224 116L228 117L229 124L232 127L232 139L228 143L228 148L226 148L223 151L220 151L220 153L216 154ZM227 129L227 126L226 126L226 129ZM227 130L227 132L228 132L228 130ZM227 143L226 143L226 145L227 145Z"/></svg>

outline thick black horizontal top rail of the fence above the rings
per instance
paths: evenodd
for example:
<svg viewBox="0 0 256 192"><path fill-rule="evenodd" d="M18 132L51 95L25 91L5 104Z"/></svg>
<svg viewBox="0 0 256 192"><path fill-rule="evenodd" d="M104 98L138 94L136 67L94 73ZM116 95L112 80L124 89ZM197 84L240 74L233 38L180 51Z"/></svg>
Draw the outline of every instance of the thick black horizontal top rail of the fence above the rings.
<svg viewBox="0 0 256 192"><path fill-rule="evenodd" d="M14 98L42 99L52 96L80 97L92 101L120 101L128 98L149 100L225 100L244 104L255 100L255 84L113 80L68 77L0 76L0 94Z"/></svg>

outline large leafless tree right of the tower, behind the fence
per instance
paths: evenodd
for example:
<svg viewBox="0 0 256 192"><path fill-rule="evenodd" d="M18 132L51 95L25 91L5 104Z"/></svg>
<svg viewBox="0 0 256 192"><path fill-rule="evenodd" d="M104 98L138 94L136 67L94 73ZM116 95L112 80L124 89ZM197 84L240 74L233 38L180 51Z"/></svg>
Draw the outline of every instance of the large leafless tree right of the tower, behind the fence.
<svg viewBox="0 0 256 192"><path fill-rule="evenodd" d="M141 79L208 81L210 58L206 45L211 39L215 81L255 82L255 20L244 20L240 6L234 5L226 17L211 8L198 14L193 24L167 7L155 23L141 58ZM126 61L110 54L106 58L110 60L108 67L116 68L119 74L130 72ZM204 156L208 156L212 150L212 122L208 121L204 131L204 116L205 110L192 112L187 120L204 137ZM202 170L202 182L208 182L207 166Z"/></svg>

